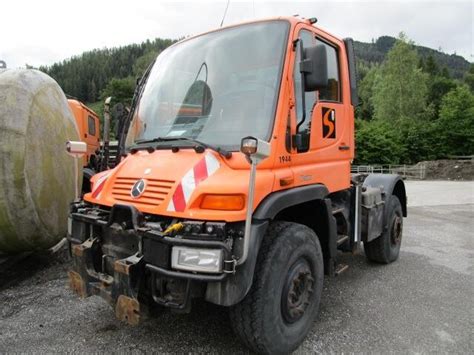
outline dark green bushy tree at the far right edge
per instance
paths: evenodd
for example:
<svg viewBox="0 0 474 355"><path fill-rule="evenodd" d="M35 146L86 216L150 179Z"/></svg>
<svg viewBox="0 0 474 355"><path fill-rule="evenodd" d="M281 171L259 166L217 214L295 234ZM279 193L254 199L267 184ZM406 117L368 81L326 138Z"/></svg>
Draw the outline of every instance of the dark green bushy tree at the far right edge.
<svg viewBox="0 0 474 355"><path fill-rule="evenodd" d="M441 153L474 154L474 94L467 86L458 86L443 98L437 123Z"/></svg>

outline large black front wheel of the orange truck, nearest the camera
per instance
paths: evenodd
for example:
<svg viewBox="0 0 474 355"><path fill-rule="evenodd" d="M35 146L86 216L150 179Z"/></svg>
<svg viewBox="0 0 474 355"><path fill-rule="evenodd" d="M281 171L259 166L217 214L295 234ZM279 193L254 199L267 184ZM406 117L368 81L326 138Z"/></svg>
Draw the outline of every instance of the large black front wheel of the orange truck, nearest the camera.
<svg viewBox="0 0 474 355"><path fill-rule="evenodd" d="M323 277L316 234L301 224L272 223L259 251L252 287L230 309L235 332L258 353L295 350L317 316Z"/></svg>

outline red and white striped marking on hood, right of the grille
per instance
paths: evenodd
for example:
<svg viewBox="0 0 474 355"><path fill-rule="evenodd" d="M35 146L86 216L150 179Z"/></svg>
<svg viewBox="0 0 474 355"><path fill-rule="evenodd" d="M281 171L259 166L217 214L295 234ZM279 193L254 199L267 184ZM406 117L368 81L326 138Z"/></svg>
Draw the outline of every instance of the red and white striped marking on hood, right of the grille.
<svg viewBox="0 0 474 355"><path fill-rule="evenodd" d="M201 181L206 180L220 167L219 160L212 153L206 155L184 174L168 205L170 212L183 212L191 195Z"/></svg>

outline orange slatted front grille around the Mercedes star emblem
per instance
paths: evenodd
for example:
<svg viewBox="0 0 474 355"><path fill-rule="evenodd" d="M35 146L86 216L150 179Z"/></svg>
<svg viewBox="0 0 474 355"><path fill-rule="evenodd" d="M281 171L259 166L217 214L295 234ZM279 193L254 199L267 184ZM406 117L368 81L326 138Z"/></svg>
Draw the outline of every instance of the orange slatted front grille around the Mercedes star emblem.
<svg viewBox="0 0 474 355"><path fill-rule="evenodd" d="M112 195L115 200L133 203L134 205L142 206L159 206L168 196L174 181L146 179L146 188L143 195L138 198L133 198L130 191L133 185L140 180L140 178L117 177L112 187Z"/></svg>

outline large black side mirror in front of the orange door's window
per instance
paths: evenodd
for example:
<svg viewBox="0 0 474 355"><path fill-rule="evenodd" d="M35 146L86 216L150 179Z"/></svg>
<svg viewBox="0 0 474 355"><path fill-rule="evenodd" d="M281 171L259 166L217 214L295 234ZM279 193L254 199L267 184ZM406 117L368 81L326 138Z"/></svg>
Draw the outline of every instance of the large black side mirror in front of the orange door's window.
<svg viewBox="0 0 474 355"><path fill-rule="evenodd" d="M304 74L305 91L315 91L328 86L328 61L326 46L316 44L304 48L300 72Z"/></svg>

